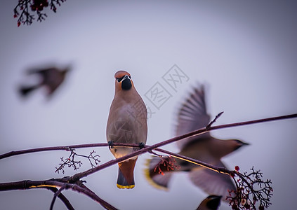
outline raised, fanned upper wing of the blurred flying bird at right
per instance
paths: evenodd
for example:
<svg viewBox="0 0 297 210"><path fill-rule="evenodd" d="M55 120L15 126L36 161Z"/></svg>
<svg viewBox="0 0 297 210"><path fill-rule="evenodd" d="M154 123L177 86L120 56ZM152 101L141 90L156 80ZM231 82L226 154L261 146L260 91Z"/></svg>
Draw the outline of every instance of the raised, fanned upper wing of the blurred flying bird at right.
<svg viewBox="0 0 297 210"><path fill-rule="evenodd" d="M206 127L210 121L210 116L206 113L204 96L204 86L195 87L194 91L185 100L178 112L178 123L176 125L176 136ZM182 149L190 141L209 136L209 133L197 137L187 138L177 142L178 148Z"/></svg>

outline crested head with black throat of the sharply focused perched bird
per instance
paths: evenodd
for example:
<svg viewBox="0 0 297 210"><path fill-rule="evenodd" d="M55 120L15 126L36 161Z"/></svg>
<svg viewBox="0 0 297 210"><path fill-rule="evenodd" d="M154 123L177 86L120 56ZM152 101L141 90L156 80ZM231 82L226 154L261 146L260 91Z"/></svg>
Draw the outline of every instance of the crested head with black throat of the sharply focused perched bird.
<svg viewBox="0 0 297 210"><path fill-rule="evenodd" d="M127 71L117 71L114 74L116 92L120 90L131 90L134 87L131 75Z"/></svg>

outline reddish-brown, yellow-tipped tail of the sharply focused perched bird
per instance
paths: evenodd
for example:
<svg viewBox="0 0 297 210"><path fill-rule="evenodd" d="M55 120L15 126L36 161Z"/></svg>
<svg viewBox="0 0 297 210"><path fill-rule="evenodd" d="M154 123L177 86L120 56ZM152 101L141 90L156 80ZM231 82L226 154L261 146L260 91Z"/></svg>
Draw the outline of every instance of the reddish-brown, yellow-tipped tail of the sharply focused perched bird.
<svg viewBox="0 0 297 210"><path fill-rule="evenodd" d="M132 189L135 186L134 182L134 167L135 159L129 159L124 162L119 162L119 174L117 176L117 187L120 189Z"/></svg>

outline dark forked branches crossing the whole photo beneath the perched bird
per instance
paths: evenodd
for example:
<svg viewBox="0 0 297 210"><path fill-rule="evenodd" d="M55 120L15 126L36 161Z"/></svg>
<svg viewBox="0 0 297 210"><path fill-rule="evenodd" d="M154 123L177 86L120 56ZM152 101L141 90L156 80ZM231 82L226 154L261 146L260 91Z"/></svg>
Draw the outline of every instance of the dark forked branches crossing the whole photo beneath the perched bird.
<svg viewBox="0 0 297 210"><path fill-rule="evenodd" d="M289 116L279 116L279 117L275 117L275 118L265 118L265 119L260 119L260 120L251 120L251 121L246 121L246 122L242 122L242 123L232 123L232 124L227 124L227 125L218 125L218 126L207 126L204 127L202 129L196 130L194 132L190 132L184 135L181 135L179 137L174 137L172 139L166 140L166 141L161 141L158 144L154 144L152 146L145 146L145 148L140 149L134 153L131 153L129 155L126 155L124 157L118 158L116 160L110 160L109 162L105 162L105 164L100 165L98 167L92 168L92 169L88 169L85 172L81 172L78 174L74 174L73 176L70 177L64 177L62 179L51 179L51 180L47 180L47 181L18 181L18 182L13 182L13 183L0 183L0 190L4 191L4 190L26 190L29 188L49 188L49 189L55 189L56 188L65 188L65 189L69 189L71 188L72 190L75 190L79 193L83 193L84 195L87 195L88 197L91 197L93 200L95 200L96 202L100 203L101 205L103 205L103 207L105 207L106 209L116 209L114 207L112 207L112 205L108 204L107 202L105 202L104 200L100 199L100 197L98 197L98 195L95 195L95 193L93 193L91 190L89 190L88 188L86 188L86 186L83 185L82 181L80 181L81 178L88 176L90 174L93 174L95 172L98 172L101 169L104 169L106 167L110 167L111 165L114 165L118 162L122 162L124 160L127 160L129 158L133 158L137 155L143 154L143 153L147 153L149 151L152 150L156 150L162 153L167 153L169 155L172 155L173 157L176 158L180 158L182 160L186 160L186 161L190 161L192 163L195 163L197 165L200 165L202 167L206 167L209 169L212 169L213 171L216 171L218 173L223 173L223 174L229 174L232 175L231 173L234 171L229 171L225 168L222 167L213 167L212 165L206 164L204 162L200 162L198 160L194 160L192 158L187 158L183 155L178 155L176 153L171 153L169 151L164 151L162 149L160 149L159 147L164 146L166 144L171 144L175 141L179 141L181 139L185 139L187 137L194 137L197 136L199 134L203 134L206 132L209 132L211 130L218 130L218 129L222 129L222 128L226 128L226 127L236 127L236 126L241 126L241 125L250 125L253 123L263 123L263 122L268 122L268 121L272 121L272 120L281 120L281 119L288 119L288 118L296 118L297 114L293 114L293 115L289 115ZM216 119L215 119L216 120ZM212 121L212 123L215 122L215 120ZM212 123L210 125L212 125ZM74 145L74 146L55 146L55 147L48 147L48 148L34 148L34 149L29 149L29 150L23 150L23 151L12 151L10 153L5 153L3 155L0 155L0 160L3 158L8 158L11 157L13 155L20 155L20 154L25 154L25 153L34 153L34 152L40 152L40 151L54 151L54 150L64 150L64 151L70 151L71 148L86 148L86 147L95 147L95 146L108 146L108 144L82 144L82 145ZM134 144L114 144L114 146L135 146L135 147L139 147L139 145L134 145ZM62 190L60 190L62 191ZM58 192L58 190L57 190ZM62 195L60 192L57 193L55 196L60 196ZM67 199L66 199L67 200ZM54 200L53 200L54 202ZM71 204L70 204L71 206ZM68 207L68 206L67 206ZM70 207L68 207L70 209ZM73 207L72 207L73 209Z"/></svg>

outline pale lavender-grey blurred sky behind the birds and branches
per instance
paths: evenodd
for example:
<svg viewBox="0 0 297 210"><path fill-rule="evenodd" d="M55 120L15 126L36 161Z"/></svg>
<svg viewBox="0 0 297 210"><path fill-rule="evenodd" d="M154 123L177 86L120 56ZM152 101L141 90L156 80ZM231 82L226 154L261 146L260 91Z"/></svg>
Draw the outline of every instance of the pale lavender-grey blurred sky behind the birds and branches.
<svg viewBox="0 0 297 210"><path fill-rule="evenodd" d="M297 112L296 1L66 1L57 13L47 8L43 22L17 27L17 0L0 3L0 153L26 148L106 142L105 126L114 97L114 73L125 69L150 107L147 144L174 136L176 112L199 83L206 84L216 125ZM164 80L176 64L189 78L176 89ZM37 83L27 69L68 65L64 83L50 97L39 88L20 97L22 84ZM172 69L171 69L172 70ZM171 94L157 109L145 94L159 83ZM272 179L270 209L292 209L296 193L297 120L280 120L212 132L220 139L251 144L223 158L240 172L254 166ZM177 152L172 144L164 148ZM108 148L94 148L101 163L113 159ZM78 150L88 154L93 148ZM56 174L63 151L34 153L0 161L0 182L44 180ZM169 191L147 183L141 155L136 187L116 187L117 165L86 177L86 186L119 209L195 209L207 196L187 174L175 174ZM67 190L75 209L100 209L90 198ZM48 209L48 190L0 192L1 209ZM65 209L60 200L55 209ZM226 203L220 209L230 209Z"/></svg>

